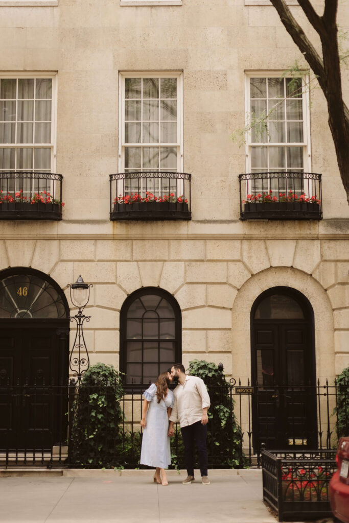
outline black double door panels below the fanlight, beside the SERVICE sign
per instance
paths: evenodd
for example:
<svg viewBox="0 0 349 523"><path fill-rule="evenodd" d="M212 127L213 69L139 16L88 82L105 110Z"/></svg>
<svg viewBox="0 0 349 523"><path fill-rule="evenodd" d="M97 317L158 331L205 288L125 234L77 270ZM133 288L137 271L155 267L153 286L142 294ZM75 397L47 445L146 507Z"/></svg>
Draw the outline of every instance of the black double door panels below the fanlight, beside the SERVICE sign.
<svg viewBox="0 0 349 523"><path fill-rule="evenodd" d="M253 445L316 448L316 394L306 321L255 320L252 326ZM314 446L315 445L315 446Z"/></svg>

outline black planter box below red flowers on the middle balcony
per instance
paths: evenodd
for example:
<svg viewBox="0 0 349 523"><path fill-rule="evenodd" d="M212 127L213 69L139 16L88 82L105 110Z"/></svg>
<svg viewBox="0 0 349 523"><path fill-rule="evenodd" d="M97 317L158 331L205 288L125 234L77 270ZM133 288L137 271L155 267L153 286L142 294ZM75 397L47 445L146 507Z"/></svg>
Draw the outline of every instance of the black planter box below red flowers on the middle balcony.
<svg viewBox="0 0 349 523"><path fill-rule="evenodd" d="M115 203L110 220L191 220L188 203Z"/></svg>

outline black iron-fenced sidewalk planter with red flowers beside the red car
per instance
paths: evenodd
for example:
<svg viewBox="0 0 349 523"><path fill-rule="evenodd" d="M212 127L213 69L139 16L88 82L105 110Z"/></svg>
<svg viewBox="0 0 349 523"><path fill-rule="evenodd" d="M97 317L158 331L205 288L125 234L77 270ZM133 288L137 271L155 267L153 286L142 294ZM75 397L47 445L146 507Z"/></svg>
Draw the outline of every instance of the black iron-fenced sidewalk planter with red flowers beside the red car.
<svg viewBox="0 0 349 523"><path fill-rule="evenodd" d="M335 450L262 450L263 500L278 521L331 517L329 483L336 471Z"/></svg>

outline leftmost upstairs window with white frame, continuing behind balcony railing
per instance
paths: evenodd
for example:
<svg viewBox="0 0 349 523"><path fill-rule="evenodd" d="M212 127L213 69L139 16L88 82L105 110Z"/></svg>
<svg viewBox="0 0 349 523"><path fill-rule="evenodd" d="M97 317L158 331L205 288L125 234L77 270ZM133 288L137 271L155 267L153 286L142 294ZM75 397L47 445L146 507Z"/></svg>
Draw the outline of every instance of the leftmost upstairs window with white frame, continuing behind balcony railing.
<svg viewBox="0 0 349 523"><path fill-rule="evenodd" d="M17 73L18 75L18 73ZM8 173L51 173L54 163L55 76L0 76L0 189L28 196L54 190L45 178Z"/></svg>

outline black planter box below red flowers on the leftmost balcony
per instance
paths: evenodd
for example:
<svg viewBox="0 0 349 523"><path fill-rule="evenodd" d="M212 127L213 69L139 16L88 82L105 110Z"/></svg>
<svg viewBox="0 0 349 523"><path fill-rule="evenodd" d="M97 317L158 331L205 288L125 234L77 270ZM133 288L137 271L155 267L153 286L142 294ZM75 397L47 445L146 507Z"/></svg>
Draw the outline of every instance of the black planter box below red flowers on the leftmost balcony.
<svg viewBox="0 0 349 523"><path fill-rule="evenodd" d="M62 220L58 203L0 203L0 220Z"/></svg>

